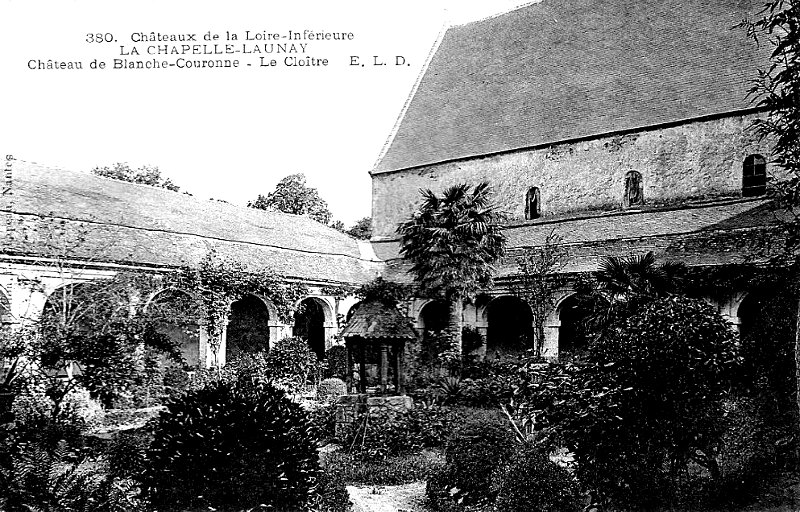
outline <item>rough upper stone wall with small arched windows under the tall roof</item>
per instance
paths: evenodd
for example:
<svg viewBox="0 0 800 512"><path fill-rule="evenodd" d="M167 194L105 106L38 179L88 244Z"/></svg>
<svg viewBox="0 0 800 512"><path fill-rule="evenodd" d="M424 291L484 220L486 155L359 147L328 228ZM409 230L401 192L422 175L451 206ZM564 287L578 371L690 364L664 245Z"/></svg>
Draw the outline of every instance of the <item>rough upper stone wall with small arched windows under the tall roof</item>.
<svg viewBox="0 0 800 512"><path fill-rule="evenodd" d="M372 177L375 239L394 238L413 213L419 189L489 180L495 201L512 219L525 216L525 194L541 192L542 217L624 208L625 175L642 175L647 205L741 196L742 163L769 155L748 127L754 114L610 135L547 148L519 150ZM773 169L768 167L768 174Z"/></svg>

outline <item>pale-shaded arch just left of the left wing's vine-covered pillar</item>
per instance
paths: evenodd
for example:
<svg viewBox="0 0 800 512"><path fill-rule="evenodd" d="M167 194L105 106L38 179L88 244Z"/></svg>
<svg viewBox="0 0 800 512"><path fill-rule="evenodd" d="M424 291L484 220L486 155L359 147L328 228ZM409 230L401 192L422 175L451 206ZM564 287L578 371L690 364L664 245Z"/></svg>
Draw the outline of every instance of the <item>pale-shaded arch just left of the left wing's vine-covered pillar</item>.
<svg viewBox="0 0 800 512"><path fill-rule="evenodd" d="M187 366L205 366L201 350L202 322L198 317L194 294L180 288L164 288L153 293L143 311L152 316L158 331L178 347Z"/></svg>

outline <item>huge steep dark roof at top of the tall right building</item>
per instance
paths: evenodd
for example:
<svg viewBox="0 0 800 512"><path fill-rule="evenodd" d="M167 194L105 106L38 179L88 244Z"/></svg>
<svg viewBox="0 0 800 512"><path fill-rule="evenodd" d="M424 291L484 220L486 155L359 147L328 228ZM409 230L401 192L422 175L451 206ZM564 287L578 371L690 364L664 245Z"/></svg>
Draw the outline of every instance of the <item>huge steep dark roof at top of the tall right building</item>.
<svg viewBox="0 0 800 512"><path fill-rule="evenodd" d="M740 111L758 0L543 0L447 30L374 173ZM763 46L763 45L762 45Z"/></svg>

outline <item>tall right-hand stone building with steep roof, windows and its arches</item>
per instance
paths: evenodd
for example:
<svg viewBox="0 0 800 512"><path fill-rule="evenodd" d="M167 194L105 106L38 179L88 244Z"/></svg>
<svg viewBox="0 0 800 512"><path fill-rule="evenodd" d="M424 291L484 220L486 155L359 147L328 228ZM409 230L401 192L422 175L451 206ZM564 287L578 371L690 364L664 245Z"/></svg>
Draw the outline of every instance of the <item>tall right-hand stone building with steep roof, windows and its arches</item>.
<svg viewBox="0 0 800 512"><path fill-rule="evenodd" d="M543 0L447 30L371 173L372 242L387 275L407 278L395 229L419 189L482 180L511 219L496 286L464 311L489 349L523 335L530 311L511 293L514 256L550 233L573 276L648 251L691 266L763 261L775 222L764 194L778 169L749 129L760 113L747 93L767 54L735 27L760 8ZM547 319L549 356L574 341L573 292ZM713 300L738 324L747 292ZM436 316L428 307L441 308L411 307L420 328Z"/></svg>

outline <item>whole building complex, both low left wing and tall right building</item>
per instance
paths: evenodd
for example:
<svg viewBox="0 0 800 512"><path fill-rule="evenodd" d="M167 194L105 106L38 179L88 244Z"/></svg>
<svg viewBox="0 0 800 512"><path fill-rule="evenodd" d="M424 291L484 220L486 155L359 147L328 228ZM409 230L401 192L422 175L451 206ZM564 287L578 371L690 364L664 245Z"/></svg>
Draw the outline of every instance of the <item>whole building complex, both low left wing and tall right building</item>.
<svg viewBox="0 0 800 512"><path fill-rule="evenodd" d="M761 113L747 91L767 54L734 28L758 8L755 0L543 0L448 29L372 170L371 243L304 217L16 161L2 208L6 316L35 316L66 282L120 268L169 272L214 249L310 286L311 318L294 325L263 298L241 306L260 308L270 341L299 329L321 352L355 302L326 295L328 287L379 274L411 279L395 229L419 189L481 180L511 219L495 287L464 308L490 349L530 330L530 309L511 292L514 256L551 233L569 249L560 271L570 276L597 270L605 256L648 251L694 267L763 262L776 237L764 193L778 170L748 129ZM54 270L45 222L87 241L70 253L69 275ZM738 324L749 291L709 300ZM547 319L548 356L574 341L573 293L561 290ZM418 330L442 326L437 301L407 306ZM211 362L208 340L186 345L187 359Z"/></svg>

